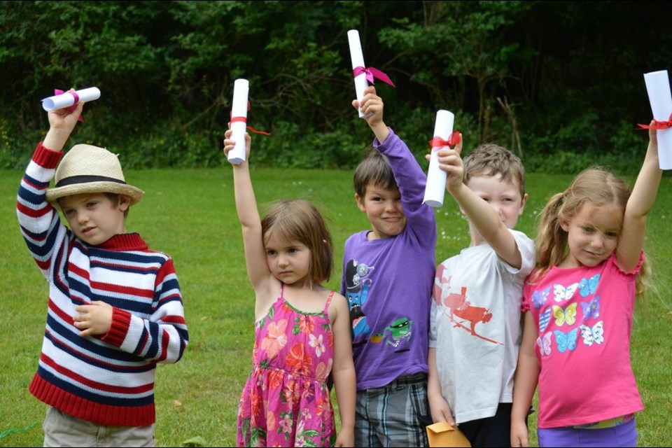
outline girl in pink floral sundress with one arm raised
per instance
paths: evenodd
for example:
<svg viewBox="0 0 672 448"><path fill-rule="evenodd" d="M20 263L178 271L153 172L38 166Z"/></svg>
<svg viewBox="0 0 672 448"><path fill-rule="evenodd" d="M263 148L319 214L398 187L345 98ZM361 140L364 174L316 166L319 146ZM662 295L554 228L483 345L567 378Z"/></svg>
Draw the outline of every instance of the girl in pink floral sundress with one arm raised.
<svg viewBox="0 0 672 448"><path fill-rule="evenodd" d="M260 219L248 158L233 166L247 272L255 291L253 369L238 406L239 447L351 447L355 367L345 297L321 286L333 267L332 240L316 207L276 202ZM224 153L234 147L225 133ZM336 435L327 377L336 389Z"/></svg>

